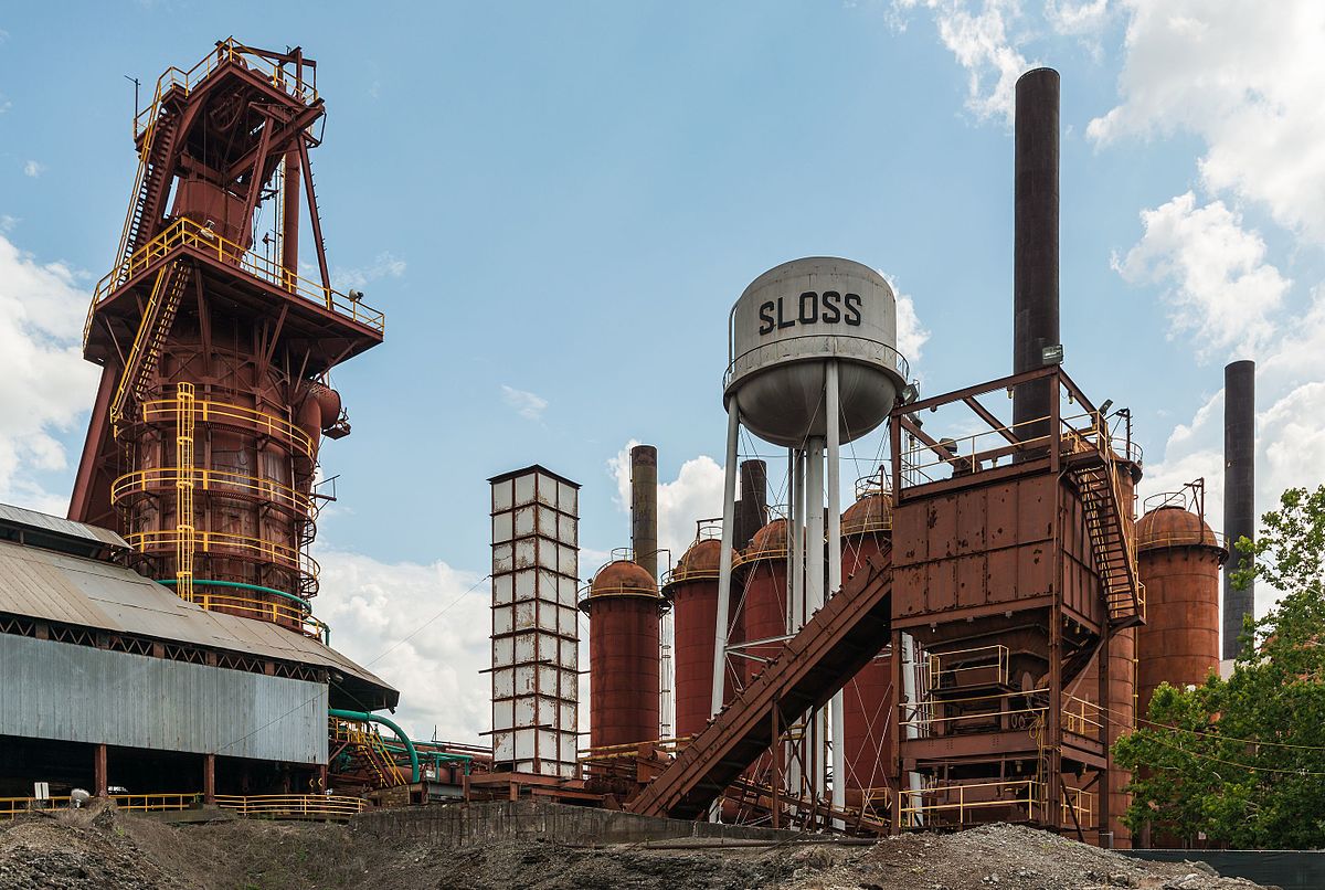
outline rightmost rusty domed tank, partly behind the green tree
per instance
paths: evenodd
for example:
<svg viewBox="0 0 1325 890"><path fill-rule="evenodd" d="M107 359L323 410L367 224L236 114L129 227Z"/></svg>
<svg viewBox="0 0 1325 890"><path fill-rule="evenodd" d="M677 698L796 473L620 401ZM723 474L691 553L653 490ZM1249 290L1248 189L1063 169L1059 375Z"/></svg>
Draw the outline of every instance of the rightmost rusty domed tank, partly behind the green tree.
<svg viewBox="0 0 1325 890"><path fill-rule="evenodd" d="M1183 687L1219 669L1219 567L1228 552L1200 517L1166 505L1137 523L1146 624L1137 629L1141 717L1161 682Z"/></svg>

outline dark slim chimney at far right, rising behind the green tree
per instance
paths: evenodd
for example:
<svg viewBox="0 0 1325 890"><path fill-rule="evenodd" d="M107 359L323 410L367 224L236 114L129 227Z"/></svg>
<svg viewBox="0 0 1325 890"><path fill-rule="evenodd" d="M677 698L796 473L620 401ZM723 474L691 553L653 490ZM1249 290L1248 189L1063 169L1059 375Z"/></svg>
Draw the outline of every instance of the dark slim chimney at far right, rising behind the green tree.
<svg viewBox="0 0 1325 890"><path fill-rule="evenodd" d="M1256 535L1256 363L1234 362L1224 367L1224 658L1236 658L1243 616L1256 617L1255 589L1236 589L1232 573L1242 558L1239 538Z"/></svg>

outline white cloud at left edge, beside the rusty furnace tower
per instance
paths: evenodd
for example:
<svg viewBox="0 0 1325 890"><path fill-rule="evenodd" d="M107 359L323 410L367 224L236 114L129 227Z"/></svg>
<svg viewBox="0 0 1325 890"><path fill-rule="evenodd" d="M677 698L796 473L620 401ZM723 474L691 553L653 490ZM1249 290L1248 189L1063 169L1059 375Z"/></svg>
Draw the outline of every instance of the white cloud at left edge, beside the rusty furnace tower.
<svg viewBox="0 0 1325 890"><path fill-rule="evenodd" d="M34 473L62 470L54 437L73 429L97 392L78 340L89 295L68 266L42 265L0 236L0 502L64 515L68 493Z"/></svg>

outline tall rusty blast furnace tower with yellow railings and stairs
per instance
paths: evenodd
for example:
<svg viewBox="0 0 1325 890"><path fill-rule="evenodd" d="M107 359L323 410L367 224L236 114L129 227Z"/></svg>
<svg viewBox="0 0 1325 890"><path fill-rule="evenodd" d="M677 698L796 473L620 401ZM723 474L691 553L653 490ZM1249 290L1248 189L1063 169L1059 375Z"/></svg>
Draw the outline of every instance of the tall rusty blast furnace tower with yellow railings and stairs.
<svg viewBox="0 0 1325 890"><path fill-rule="evenodd" d="M69 509L180 597L310 636L319 446L350 432L327 373L384 331L331 283L309 163L323 113L298 48L220 41L158 81L83 331L102 375Z"/></svg>

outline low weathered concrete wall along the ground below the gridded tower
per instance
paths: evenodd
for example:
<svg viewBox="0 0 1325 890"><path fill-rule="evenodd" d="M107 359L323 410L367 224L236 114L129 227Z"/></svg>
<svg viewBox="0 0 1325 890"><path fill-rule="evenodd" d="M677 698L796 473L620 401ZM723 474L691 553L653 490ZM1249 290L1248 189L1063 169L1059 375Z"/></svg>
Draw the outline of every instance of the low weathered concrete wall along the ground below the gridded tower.
<svg viewBox="0 0 1325 890"><path fill-rule="evenodd" d="M372 837L408 837L452 848L498 840L541 840L568 846L602 846L690 837L759 841L798 837L796 832L652 818L610 809L533 800L380 809L356 816L351 829Z"/></svg>

